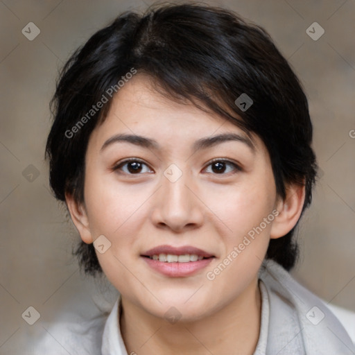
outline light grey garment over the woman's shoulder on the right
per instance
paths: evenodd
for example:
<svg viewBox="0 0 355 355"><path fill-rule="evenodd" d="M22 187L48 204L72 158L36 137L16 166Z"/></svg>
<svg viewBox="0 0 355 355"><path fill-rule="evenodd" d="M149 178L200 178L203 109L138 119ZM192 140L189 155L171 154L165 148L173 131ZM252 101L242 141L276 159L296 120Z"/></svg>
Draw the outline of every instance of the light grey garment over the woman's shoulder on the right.
<svg viewBox="0 0 355 355"><path fill-rule="evenodd" d="M269 298L272 338L268 343L275 347L288 346L292 340L304 348L306 354L313 354L315 350L317 354L354 354L353 340L345 329L351 312L342 315L347 320L344 327L320 297L298 283L275 261L263 262L259 279L266 286ZM340 311L336 313L339 315Z"/></svg>

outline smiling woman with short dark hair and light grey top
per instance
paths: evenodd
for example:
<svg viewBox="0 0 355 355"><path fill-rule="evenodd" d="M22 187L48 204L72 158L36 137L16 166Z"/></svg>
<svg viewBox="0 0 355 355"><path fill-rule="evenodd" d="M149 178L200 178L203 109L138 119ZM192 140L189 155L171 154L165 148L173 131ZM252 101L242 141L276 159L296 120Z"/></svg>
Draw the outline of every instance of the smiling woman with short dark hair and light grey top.
<svg viewBox="0 0 355 355"><path fill-rule="evenodd" d="M354 354L288 274L317 165L266 31L191 3L125 12L72 55L53 105L51 187L85 272L120 293L88 354Z"/></svg>

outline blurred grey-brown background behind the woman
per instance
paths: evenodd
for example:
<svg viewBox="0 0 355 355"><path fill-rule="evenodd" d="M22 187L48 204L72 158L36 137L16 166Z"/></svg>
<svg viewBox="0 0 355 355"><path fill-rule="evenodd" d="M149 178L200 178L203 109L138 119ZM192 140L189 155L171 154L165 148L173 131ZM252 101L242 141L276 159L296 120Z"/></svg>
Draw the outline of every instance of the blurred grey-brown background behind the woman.
<svg viewBox="0 0 355 355"><path fill-rule="evenodd" d="M74 49L119 12L151 3L0 1L0 354L37 354L31 341L39 338L53 343L53 354L67 354L52 322L109 310L116 297L107 282L80 275L71 257L78 235L49 192L44 162L49 100ZM304 85L321 179L300 224L302 256L292 274L325 302L355 311L355 1L205 3L266 28ZM29 306L40 313L33 325L22 316Z"/></svg>

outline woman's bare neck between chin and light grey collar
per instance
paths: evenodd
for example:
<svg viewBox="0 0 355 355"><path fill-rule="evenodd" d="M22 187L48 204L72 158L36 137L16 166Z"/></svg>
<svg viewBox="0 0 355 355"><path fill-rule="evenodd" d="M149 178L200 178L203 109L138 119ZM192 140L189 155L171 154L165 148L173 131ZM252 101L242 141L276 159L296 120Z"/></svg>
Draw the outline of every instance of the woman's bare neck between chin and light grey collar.
<svg viewBox="0 0 355 355"><path fill-rule="evenodd" d="M193 322L169 324L122 298L121 334L128 354L245 354L257 347L261 294L255 279L242 295Z"/></svg>

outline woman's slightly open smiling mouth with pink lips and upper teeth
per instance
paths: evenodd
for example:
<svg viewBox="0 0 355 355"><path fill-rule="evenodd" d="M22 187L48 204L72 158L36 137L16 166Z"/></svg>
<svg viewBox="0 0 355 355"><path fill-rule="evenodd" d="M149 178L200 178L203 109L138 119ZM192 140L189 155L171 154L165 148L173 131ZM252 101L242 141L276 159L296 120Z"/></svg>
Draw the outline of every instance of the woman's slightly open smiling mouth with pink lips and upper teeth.
<svg viewBox="0 0 355 355"><path fill-rule="evenodd" d="M205 268L216 257L192 246L180 248L160 245L141 257L150 268L168 277L187 277Z"/></svg>

